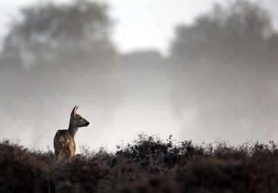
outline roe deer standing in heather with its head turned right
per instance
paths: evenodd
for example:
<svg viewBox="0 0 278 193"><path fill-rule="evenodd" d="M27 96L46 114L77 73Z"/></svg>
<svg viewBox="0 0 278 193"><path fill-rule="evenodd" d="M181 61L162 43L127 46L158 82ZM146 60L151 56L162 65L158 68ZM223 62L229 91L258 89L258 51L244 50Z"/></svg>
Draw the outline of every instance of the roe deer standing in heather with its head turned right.
<svg viewBox="0 0 278 193"><path fill-rule="evenodd" d="M70 126L68 130L58 130L54 137L55 156L60 164L60 158L71 160L75 153L74 136L79 127L88 126L90 123L77 114L76 106L70 115Z"/></svg>

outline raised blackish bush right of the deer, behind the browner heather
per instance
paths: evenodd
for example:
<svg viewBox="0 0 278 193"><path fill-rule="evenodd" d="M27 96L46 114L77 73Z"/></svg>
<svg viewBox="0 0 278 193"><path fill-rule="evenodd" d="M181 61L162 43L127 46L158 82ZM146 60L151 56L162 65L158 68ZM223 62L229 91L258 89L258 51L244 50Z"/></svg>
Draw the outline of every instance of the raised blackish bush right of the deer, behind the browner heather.
<svg viewBox="0 0 278 193"><path fill-rule="evenodd" d="M158 135L148 136L145 133L138 134L131 143L117 145L117 149L116 156L131 158L136 162L156 158L163 160L169 167L174 167L177 161L188 159L190 156L205 154L204 144L193 145L191 140L176 142L172 135L164 141Z"/></svg>

